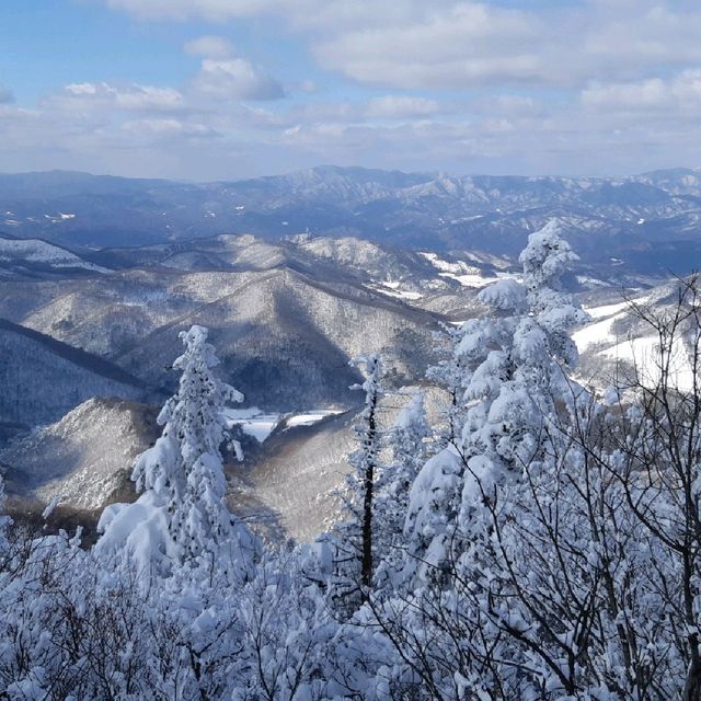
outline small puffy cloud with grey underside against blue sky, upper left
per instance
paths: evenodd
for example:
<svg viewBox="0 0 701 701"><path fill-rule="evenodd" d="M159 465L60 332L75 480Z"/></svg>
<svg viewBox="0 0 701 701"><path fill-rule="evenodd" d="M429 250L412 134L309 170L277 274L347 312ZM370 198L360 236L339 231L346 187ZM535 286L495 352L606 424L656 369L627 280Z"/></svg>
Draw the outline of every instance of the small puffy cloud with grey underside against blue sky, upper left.
<svg viewBox="0 0 701 701"><path fill-rule="evenodd" d="M244 58L206 58L193 87L205 95L220 99L278 100L285 96L279 82Z"/></svg>

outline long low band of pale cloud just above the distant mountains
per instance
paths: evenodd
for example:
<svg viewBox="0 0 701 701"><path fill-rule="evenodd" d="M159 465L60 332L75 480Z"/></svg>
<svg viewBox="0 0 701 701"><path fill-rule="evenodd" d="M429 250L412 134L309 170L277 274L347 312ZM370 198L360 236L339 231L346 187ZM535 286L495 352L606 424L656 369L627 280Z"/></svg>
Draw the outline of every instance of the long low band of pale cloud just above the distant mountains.
<svg viewBox="0 0 701 701"><path fill-rule="evenodd" d="M577 104L509 115L461 115L441 105L434 115L406 119L369 117L361 101L275 111L215 101L210 110L170 114L83 105L78 111L53 103L39 112L0 105L3 169L70 163L211 180L319 162L521 174L618 174L701 162L701 127L690 116L682 122L665 113L651 124Z"/></svg>

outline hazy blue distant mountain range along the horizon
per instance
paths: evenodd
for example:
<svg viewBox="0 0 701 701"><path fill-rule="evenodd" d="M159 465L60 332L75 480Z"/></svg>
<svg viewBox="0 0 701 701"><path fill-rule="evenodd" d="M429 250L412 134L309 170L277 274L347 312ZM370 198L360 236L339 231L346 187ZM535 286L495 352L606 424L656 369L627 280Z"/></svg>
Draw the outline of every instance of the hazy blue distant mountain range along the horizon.
<svg viewBox="0 0 701 701"><path fill-rule="evenodd" d="M701 260L701 170L623 179L453 176L320 166L187 184L54 171L0 175L0 228L71 246L308 231L414 250L514 255L558 217L602 271L686 273Z"/></svg>

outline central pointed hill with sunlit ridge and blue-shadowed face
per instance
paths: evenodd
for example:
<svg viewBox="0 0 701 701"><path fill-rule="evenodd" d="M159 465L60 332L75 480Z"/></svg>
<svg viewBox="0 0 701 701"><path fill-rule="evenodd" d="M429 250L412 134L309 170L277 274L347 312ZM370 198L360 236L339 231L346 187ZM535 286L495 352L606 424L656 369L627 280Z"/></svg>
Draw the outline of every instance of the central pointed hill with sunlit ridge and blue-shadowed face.
<svg viewBox="0 0 701 701"><path fill-rule="evenodd" d="M177 331L193 323L211 330L227 372L250 403L296 411L354 405L358 400L348 386L357 376L348 360L368 348L386 355L398 377L417 379L438 318L355 286L322 285L276 269L156 329L116 360L158 381Z"/></svg>

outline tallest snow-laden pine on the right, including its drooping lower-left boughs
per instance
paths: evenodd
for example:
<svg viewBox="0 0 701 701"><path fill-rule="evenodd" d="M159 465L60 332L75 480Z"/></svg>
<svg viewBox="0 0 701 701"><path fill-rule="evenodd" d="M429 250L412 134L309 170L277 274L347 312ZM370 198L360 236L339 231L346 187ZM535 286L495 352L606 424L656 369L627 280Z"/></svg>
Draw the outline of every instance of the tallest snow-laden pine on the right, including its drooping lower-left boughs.
<svg viewBox="0 0 701 701"><path fill-rule="evenodd" d="M464 372L464 425L456 446L426 462L407 510L410 549L423 574L439 573L471 545L470 530L482 528L475 513L545 450L547 417L555 401L571 398L563 366L576 363L576 347L567 332L586 319L560 284L574 260L558 222L548 223L520 255L521 281L480 292L495 317L461 329L455 353Z"/></svg>

